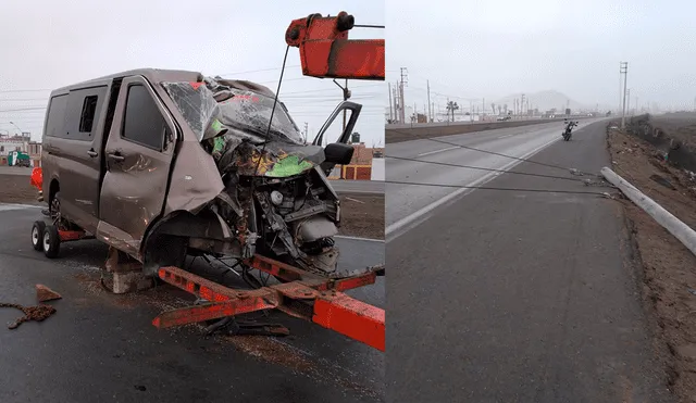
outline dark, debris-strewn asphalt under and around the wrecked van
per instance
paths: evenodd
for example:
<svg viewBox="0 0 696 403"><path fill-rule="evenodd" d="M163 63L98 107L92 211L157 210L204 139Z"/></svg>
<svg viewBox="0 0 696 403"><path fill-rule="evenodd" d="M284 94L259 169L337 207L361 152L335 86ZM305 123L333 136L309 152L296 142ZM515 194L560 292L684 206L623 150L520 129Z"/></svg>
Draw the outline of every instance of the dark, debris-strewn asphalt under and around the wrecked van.
<svg viewBox="0 0 696 403"><path fill-rule="evenodd" d="M39 217L38 209L0 205L0 302L35 305L36 284L63 295L47 320L0 328L0 402L384 401L383 353L281 313L252 319L284 324L291 332L286 338L156 329L152 318L188 295L170 286L105 292L98 284L105 247L64 243L61 257L49 261L29 243ZM337 243L344 264L384 262L382 242ZM352 295L384 306L383 279ZM2 323L20 316L0 310Z"/></svg>

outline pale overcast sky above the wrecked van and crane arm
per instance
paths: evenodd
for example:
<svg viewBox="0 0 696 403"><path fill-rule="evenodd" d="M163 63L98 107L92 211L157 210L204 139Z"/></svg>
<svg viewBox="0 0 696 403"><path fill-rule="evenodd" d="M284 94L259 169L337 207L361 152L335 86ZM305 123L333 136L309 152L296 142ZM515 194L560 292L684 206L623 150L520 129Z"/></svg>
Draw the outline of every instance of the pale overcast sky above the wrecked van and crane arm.
<svg viewBox="0 0 696 403"><path fill-rule="evenodd" d="M275 91L290 22L339 11L358 24L385 22L381 1L0 0L0 133L18 131L14 122L40 139L50 89L132 68L220 74ZM384 29L350 33L384 37ZM369 146L384 144L386 84L353 80L349 88L364 105L356 131ZM290 48L281 100L311 136L341 92L331 79L303 77L299 50Z"/></svg>

